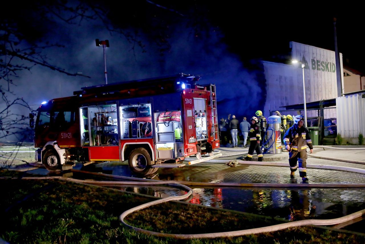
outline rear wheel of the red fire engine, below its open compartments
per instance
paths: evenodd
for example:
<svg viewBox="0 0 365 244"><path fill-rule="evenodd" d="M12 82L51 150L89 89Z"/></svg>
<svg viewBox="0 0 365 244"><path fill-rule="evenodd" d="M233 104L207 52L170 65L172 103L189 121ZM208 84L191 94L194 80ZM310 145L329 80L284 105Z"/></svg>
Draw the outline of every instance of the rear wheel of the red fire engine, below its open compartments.
<svg viewBox="0 0 365 244"><path fill-rule="evenodd" d="M136 174L152 174L157 168L151 168L151 157L148 151L142 147L136 148L129 154L129 168Z"/></svg>

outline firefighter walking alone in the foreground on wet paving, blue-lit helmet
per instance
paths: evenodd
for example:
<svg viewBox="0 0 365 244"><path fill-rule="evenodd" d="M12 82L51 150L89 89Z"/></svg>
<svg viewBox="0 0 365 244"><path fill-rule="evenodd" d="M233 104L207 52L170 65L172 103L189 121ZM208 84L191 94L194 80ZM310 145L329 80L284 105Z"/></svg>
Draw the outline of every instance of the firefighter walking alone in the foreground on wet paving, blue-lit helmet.
<svg viewBox="0 0 365 244"><path fill-rule="evenodd" d="M294 124L284 135L285 149L289 152L290 178L295 182L294 172L297 170L297 161L299 162L299 176L303 182L308 181L307 178L307 145L310 153L313 152L312 140L307 128L303 126L303 116L294 117Z"/></svg>

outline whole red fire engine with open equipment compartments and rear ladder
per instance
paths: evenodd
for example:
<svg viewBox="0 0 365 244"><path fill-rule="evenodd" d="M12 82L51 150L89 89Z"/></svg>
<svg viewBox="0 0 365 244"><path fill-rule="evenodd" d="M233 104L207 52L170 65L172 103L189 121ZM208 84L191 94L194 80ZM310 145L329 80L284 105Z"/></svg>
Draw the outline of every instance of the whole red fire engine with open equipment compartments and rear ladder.
<svg viewBox="0 0 365 244"><path fill-rule="evenodd" d="M215 85L198 80L185 74L134 80L50 100L37 109L36 161L60 171L75 161L128 159L132 172L147 175L185 166L179 162L188 156L210 159L219 147Z"/></svg>

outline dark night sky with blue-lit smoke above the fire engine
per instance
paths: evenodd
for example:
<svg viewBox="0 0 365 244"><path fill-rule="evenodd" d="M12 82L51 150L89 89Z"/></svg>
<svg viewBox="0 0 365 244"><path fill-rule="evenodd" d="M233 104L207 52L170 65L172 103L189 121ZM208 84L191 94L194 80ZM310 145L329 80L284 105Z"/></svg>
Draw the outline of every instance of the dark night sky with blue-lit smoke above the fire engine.
<svg viewBox="0 0 365 244"><path fill-rule="evenodd" d="M3 10L7 11L2 11L0 19L1 25L14 25L22 34L19 46L62 45L42 49L46 61L67 72L91 77L68 76L41 65L17 72L18 77L13 78L16 86L11 89L33 108L42 101L72 95L81 87L104 83L103 48L95 46L99 38L110 41L108 83L181 72L201 75L201 83L217 85L219 117L228 113L252 116L263 109L266 93L258 60L288 61L289 41L334 50L334 16L344 64L365 72L361 39L364 19L352 9L350 14L343 7L331 10L328 4L67 2L72 10L87 8L81 18L74 16L71 8L65 10L63 1L45 1L17 8L5 3ZM90 7L107 14L88 19ZM2 44L9 45L4 42L3 28L0 36ZM26 63L20 59L13 62ZM7 86L4 79L0 82Z"/></svg>

